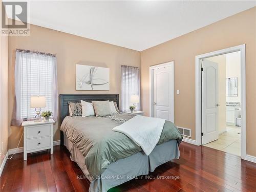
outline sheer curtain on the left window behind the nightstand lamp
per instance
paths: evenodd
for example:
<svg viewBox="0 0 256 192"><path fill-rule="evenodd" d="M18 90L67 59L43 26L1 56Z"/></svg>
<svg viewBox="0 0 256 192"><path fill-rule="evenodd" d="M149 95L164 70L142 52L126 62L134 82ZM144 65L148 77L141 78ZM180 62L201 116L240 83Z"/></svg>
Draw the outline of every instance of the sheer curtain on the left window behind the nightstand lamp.
<svg viewBox="0 0 256 192"><path fill-rule="evenodd" d="M46 107L54 120L58 114L57 61L55 55L16 50L15 102L11 124L20 126L23 120L34 119L36 112L30 108L30 97L46 96Z"/></svg>

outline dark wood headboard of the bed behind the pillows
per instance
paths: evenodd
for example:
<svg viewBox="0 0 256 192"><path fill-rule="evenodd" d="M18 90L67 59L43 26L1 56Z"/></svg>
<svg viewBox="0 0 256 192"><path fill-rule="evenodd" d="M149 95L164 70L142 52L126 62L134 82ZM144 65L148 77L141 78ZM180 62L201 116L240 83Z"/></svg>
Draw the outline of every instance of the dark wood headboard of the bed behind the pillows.
<svg viewBox="0 0 256 192"><path fill-rule="evenodd" d="M66 116L69 116L69 106L68 102L80 102L80 100L92 102L92 101L115 101L119 108L119 95L59 95L59 114L60 114L60 124ZM60 144L64 144L64 135L60 131Z"/></svg>

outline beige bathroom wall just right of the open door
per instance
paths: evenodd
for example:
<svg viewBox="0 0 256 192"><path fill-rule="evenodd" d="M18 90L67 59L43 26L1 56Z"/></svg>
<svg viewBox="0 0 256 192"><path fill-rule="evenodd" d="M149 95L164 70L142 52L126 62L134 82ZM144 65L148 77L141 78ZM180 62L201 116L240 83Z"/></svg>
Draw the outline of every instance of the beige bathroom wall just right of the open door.
<svg viewBox="0 0 256 192"><path fill-rule="evenodd" d="M222 134L226 131L226 55L218 55L209 57L205 60L210 60L218 63L218 131Z"/></svg>

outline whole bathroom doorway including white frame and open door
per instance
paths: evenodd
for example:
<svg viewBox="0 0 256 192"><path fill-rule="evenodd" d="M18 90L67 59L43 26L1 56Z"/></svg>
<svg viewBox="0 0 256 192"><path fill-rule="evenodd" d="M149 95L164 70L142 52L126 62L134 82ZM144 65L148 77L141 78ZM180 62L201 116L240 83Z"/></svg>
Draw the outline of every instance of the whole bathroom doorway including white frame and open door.
<svg viewBox="0 0 256 192"><path fill-rule="evenodd" d="M225 58L225 64L228 60L231 68L218 63L221 56L223 60ZM237 69L232 59L238 61L240 71L230 76L229 72ZM196 144L208 144L211 145L209 147L239 155L246 160L245 66L245 45L196 56ZM219 76L222 76L221 80ZM218 144L209 144L214 141ZM232 147L236 147L236 150Z"/></svg>

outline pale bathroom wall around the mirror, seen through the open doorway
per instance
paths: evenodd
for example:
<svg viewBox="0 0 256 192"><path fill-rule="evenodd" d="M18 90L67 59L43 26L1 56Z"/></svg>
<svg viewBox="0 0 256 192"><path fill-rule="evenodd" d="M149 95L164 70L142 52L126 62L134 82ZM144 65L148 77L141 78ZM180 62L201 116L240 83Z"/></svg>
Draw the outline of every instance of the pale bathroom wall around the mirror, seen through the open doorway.
<svg viewBox="0 0 256 192"><path fill-rule="evenodd" d="M226 54L226 78L238 78L238 96L227 97L227 102L241 102L241 58L240 51Z"/></svg>

